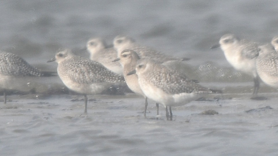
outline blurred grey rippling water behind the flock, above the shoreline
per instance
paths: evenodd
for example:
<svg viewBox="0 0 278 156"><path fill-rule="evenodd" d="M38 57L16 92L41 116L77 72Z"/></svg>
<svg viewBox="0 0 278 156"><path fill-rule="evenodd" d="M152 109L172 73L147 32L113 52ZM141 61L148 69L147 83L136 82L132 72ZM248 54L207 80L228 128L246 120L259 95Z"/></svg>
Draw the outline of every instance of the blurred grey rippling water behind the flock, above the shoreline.
<svg viewBox="0 0 278 156"><path fill-rule="evenodd" d="M20 55L40 69L59 48L84 48L91 37L108 44L125 34L137 42L177 57L189 57L201 81L250 81L235 72L220 48L210 50L225 33L257 42L278 35L277 1L1 1L0 49ZM214 70L211 72L210 70ZM205 75L205 78L204 78ZM252 85L252 83L250 83Z"/></svg>

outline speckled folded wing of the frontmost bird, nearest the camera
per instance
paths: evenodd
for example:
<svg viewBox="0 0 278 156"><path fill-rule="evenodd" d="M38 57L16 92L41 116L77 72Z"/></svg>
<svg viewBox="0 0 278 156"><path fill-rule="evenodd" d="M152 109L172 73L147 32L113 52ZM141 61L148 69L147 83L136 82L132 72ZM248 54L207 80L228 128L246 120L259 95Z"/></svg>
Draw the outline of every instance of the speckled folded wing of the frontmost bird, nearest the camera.
<svg viewBox="0 0 278 156"><path fill-rule="evenodd" d="M208 88L194 83L183 74L178 74L172 70L162 68L161 71L151 73L152 84L168 94L191 93L198 91L211 92Z"/></svg>

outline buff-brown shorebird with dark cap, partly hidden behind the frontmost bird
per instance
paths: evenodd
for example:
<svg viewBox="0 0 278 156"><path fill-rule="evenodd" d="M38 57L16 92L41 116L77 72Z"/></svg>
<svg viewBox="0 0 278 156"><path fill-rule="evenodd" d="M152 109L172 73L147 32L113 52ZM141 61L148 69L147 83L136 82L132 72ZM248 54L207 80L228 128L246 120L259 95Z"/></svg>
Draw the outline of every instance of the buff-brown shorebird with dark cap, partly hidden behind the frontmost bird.
<svg viewBox="0 0 278 156"><path fill-rule="evenodd" d="M140 59L138 54L134 50L126 49L123 50L120 54L120 57L115 59L114 61L120 61L121 65L123 66L123 72L124 72L124 79L126 81L127 86L131 91L138 95L142 95L145 97L145 109L144 109L144 116L146 117L146 111L148 106L148 98L141 90L139 83L138 83L138 77L136 74L127 75L128 72L135 69L137 61ZM159 114L159 105L156 103L157 106L157 115Z"/></svg>

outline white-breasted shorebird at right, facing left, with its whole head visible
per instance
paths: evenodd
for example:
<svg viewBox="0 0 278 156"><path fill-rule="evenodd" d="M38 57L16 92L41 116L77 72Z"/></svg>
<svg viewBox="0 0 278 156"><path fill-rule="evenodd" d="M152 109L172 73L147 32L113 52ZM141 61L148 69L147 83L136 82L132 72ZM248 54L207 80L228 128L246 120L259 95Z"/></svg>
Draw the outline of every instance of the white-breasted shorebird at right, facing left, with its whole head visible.
<svg viewBox="0 0 278 156"><path fill-rule="evenodd" d="M219 44L211 47L221 47L227 61L236 69L248 75L254 80L254 92L256 95L260 86L260 79L256 71L256 58L259 55L259 44L247 40L239 40L234 34L225 34Z"/></svg>

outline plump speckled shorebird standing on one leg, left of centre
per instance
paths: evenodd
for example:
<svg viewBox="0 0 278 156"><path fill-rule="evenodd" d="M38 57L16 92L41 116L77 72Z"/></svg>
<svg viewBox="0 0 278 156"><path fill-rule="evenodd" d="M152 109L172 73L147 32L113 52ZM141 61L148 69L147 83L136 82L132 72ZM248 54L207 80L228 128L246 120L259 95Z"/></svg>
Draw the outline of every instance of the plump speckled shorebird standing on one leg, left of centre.
<svg viewBox="0 0 278 156"><path fill-rule="evenodd" d="M87 94L101 93L112 84L124 82L101 63L74 55L70 49L58 50L55 58L47 62L58 63L57 72L62 82L72 91L84 95L87 113Z"/></svg>

